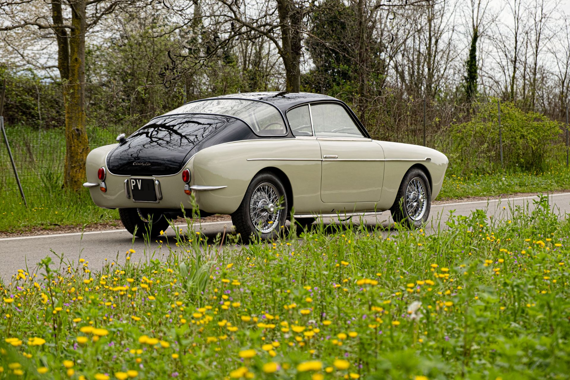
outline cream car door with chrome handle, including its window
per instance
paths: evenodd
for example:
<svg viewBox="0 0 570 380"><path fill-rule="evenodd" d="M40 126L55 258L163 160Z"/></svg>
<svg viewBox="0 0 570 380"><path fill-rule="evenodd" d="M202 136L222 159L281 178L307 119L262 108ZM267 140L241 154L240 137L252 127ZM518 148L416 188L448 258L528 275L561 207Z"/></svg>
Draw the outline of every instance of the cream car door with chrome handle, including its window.
<svg viewBox="0 0 570 380"><path fill-rule="evenodd" d="M380 201L384 152L365 137L338 103L311 104L311 119L321 156L321 201Z"/></svg>

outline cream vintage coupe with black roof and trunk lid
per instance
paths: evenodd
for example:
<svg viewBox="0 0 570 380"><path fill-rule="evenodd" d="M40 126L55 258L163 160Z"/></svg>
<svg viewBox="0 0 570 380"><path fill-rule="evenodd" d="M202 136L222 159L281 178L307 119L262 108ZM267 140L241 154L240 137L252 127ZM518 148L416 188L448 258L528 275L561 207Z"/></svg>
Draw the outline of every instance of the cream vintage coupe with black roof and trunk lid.
<svg viewBox="0 0 570 380"><path fill-rule="evenodd" d="M159 234L192 204L262 239L291 214L304 226L390 210L418 227L448 163L424 146L372 140L345 103L314 93L191 101L117 141L89 153L84 186L137 236Z"/></svg>

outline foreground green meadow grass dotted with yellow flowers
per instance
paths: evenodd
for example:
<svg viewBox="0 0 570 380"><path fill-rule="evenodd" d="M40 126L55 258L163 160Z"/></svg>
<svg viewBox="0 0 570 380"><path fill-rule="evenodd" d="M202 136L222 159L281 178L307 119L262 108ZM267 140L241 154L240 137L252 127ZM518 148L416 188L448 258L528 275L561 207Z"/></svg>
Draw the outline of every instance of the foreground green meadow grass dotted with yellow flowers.
<svg viewBox="0 0 570 380"><path fill-rule="evenodd" d="M0 378L568 378L570 223L545 198L504 212L44 260L0 289Z"/></svg>

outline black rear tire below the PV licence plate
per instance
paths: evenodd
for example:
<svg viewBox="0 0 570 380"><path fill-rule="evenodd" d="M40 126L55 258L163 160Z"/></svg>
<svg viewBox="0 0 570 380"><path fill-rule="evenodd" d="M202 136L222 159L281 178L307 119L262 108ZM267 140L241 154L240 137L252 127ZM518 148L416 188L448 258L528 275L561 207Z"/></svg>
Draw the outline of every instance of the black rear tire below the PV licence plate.
<svg viewBox="0 0 570 380"><path fill-rule="evenodd" d="M169 220L162 213L153 212L152 209L119 209L119 216L127 231L137 238L149 235L150 238L156 238L160 235L160 231L166 230L169 226Z"/></svg>

